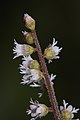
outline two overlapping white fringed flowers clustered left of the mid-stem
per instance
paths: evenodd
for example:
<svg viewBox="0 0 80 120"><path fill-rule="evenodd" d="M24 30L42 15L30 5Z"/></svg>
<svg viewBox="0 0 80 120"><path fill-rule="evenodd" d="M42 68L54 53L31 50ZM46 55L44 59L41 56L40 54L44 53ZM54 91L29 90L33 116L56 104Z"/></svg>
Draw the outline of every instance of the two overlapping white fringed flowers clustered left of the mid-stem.
<svg viewBox="0 0 80 120"><path fill-rule="evenodd" d="M21 84L28 84L31 87L40 87L40 81L43 80L43 74L40 71L40 65L37 60L33 60L31 56L22 58L20 64L20 73L23 74Z"/></svg>

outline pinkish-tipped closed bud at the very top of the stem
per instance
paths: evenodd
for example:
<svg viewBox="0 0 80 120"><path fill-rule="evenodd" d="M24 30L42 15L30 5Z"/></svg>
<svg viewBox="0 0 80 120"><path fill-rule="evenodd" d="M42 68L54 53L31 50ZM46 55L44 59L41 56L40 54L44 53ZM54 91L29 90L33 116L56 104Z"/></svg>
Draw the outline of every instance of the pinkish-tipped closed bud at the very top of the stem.
<svg viewBox="0 0 80 120"><path fill-rule="evenodd" d="M25 26L30 30L35 30L35 20L28 14L24 14Z"/></svg>

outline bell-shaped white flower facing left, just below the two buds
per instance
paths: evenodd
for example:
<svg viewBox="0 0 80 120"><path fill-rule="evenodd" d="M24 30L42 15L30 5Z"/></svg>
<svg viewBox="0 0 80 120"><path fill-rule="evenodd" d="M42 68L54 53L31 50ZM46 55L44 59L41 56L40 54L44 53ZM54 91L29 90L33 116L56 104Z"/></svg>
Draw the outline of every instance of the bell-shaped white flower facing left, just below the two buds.
<svg viewBox="0 0 80 120"><path fill-rule="evenodd" d="M13 48L13 54L15 54L15 56L13 59L19 56L28 56L34 52L33 47L26 44L18 44L15 39L14 39L14 45L15 47Z"/></svg>

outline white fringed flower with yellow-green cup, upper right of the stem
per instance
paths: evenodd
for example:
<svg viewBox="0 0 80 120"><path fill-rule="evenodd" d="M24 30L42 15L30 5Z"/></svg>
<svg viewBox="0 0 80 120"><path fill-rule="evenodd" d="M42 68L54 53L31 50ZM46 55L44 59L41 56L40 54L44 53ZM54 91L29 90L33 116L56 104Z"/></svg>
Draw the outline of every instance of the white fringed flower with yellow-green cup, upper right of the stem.
<svg viewBox="0 0 80 120"><path fill-rule="evenodd" d="M48 48L44 51L44 57L49 60L49 63L52 62L52 59L59 59L58 56L59 52L62 50L62 47L59 48L56 46L57 41L55 41L55 38L53 38L52 45L50 44Z"/></svg>

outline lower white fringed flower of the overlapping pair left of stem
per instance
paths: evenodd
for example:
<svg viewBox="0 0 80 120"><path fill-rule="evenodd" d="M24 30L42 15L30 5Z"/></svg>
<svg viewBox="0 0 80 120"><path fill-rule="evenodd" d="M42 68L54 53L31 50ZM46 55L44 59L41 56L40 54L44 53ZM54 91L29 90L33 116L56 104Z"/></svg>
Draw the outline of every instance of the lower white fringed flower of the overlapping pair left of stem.
<svg viewBox="0 0 80 120"><path fill-rule="evenodd" d="M27 84L30 85L30 87L40 87L40 80L42 79L43 74L40 70L27 68L21 84Z"/></svg>

